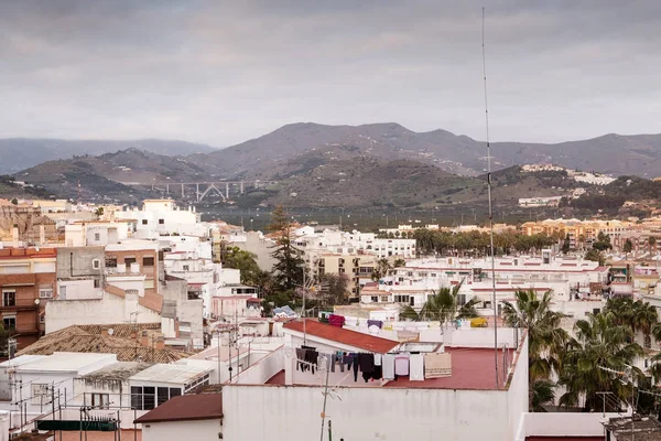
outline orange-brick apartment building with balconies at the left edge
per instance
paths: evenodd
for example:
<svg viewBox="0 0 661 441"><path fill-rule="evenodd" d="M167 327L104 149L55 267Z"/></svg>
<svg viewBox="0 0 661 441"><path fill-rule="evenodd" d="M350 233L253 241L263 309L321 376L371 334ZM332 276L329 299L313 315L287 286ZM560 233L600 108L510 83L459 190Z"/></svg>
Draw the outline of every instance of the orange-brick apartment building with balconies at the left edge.
<svg viewBox="0 0 661 441"><path fill-rule="evenodd" d="M57 295L56 258L55 248L0 249L0 314L19 351L44 331L45 305Z"/></svg>

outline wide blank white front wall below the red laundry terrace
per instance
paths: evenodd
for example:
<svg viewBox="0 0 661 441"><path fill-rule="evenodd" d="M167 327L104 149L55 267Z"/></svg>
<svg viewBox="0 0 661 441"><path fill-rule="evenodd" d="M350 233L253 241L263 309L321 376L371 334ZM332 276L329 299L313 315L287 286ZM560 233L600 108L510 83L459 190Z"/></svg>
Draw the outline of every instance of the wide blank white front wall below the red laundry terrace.
<svg viewBox="0 0 661 441"><path fill-rule="evenodd" d="M339 440L514 439L505 391L337 388L327 418ZM319 387L227 385L223 389L224 438L304 441L319 434ZM513 409L512 409L513 410ZM259 416L259 423L256 423Z"/></svg>

